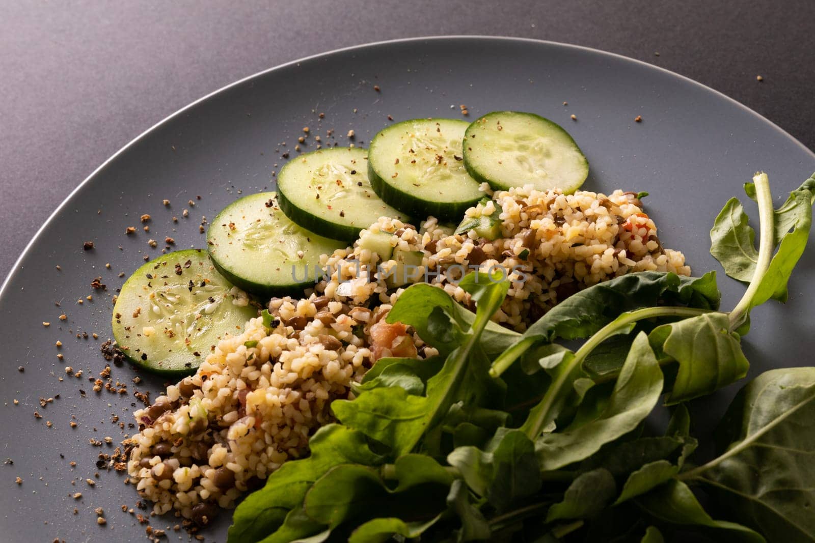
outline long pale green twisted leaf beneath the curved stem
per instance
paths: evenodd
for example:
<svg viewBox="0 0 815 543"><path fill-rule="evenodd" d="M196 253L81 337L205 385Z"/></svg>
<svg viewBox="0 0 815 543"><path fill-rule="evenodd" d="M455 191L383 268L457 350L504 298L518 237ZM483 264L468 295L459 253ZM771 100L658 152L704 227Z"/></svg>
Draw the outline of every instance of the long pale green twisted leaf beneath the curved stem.
<svg viewBox="0 0 815 543"><path fill-rule="evenodd" d="M579 462L596 453L603 444L634 430L654 409L662 388L662 371L647 336L641 333L634 339L608 405L598 418L580 421L563 431L544 433L535 440L541 469L555 470Z"/></svg>

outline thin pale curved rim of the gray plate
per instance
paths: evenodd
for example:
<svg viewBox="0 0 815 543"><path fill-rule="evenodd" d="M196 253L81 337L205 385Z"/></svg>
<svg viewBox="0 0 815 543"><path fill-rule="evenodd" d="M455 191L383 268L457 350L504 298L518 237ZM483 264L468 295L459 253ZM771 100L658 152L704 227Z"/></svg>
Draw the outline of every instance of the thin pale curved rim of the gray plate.
<svg viewBox="0 0 815 543"><path fill-rule="evenodd" d="M59 205L54 209L54 211L51 212L51 214L48 216L48 218L46 218L46 220L43 221L42 225L37 229L37 231L33 234L32 238L29 240L29 243L26 243L25 247L23 248L23 251L20 252L20 256L18 256L17 259L15 260L14 264L11 265L11 271L9 271L9 274L3 280L2 285L0 285L0 299L2 299L2 296L6 293L6 291L9 288L11 288L12 279L14 279L16 277L16 275L20 273L20 269L21 269L20 268L20 263L23 261L23 259L26 256L28 256L29 251L32 250L34 243L37 243L38 239L42 235L42 232L46 229L47 226L49 226L51 224L51 221L55 220L55 217L57 216L57 214L59 214L59 212L61 212L63 210L63 208L65 208L68 205L68 202L70 202L71 199L73 199L73 196L76 195L77 192L79 190L81 190L84 186L86 186L88 183L93 181L94 177L96 177L96 175L99 172L101 172L113 160L116 160L119 155L121 155L121 154L125 153L126 151L128 151L130 149L130 147L134 147L134 145L136 143L138 143L139 141L141 141L143 138L147 138L148 135L150 133L152 133L153 130L159 129L162 125L165 125L165 123L170 122L170 120L173 120L176 116L179 116L179 115L183 114L183 112L187 112L187 110L191 109L192 107L195 107L197 104L199 104L201 102L204 102L207 99L210 99L210 98L214 97L216 94L221 94L222 92L226 92L227 90L230 90L232 87L235 87L237 85L241 85L241 84L245 83L246 81L252 80L252 79L254 79L256 77L265 76L267 73L275 72L276 70L281 70L281 69L284 69L284 68L289 68L289 66L294 66L294 65L297 65L298 63L303 63L303 62L311 61L311 60L314 60L314 59L319 59L321 57L327 57L327 56L330 56L330 55L336 55L338 53L344 53L344 52L353 51L353 50L363 50L363 49L368 49L368 48L375 48L375 47L388 46L388 45L401 44L401 43L409 43L409 42L429 42L429 41L442 41L442 40L477 40L477 41L485 41L485 42L492 40L492 41L500 41L500 42L520 42L520 43L531 43L531 44L535 44L535 45L557 46L557 47L562 47L564 49L579 50L579 51L584 51L584 52L587 52L587 53L590 53L590 54L593 54L593 55L607 56L607 57L610 57L610 58L613 58L613 59L618 59L618 60L623 60L623 61L630 62L630 63L639 64L639 65L644 66L645 68L654 69L654 70L657 70L659 72L663 72L664 74L670 75L672 77L676 77L681 81L685 81L685 82L688 82L688 83L690 83L692 85L696 85L696 86L700 87L702 90L706 90L707 92L710 92L712 94L715 94L715 95L719 96L720 98L725 99L729 103L732 103L735 106L741 108L742 111L747 112L747 113L751 114L752 116L756 116L758 118L758 120L764 121L764 123L766 123L767 125L769 125L773 129L778 131L780 134L782 134L782 136L784 136L784 137L788 138L789 140L791 140L791 142L794 142L798 147L800 147L802 150L804 150L805 153L807 153L808 155L811 155L813 157L813 159L815 159L815 151L813 151L813 150L809 149L808 147L806 147L804 145L804 143L800 142L797 138L793 137L785 129L782 129L780 126L776 125L772 120L769 120L767 117L761 115L759 112L756 112L755 110L751 109L750 107L745 106L743 103L738 102L738 100L729 97L727 94L724 94L720 90L713 89L712 87L710 87L708 85L704 85L703 83L695 81L694 79L691 79L690 77L683 76L680 73L672 72L671 70L668 70L667 68L662 68L661 66L657 66L657 65L652 64L652 63L647 63L647 62L645 62L643 60L632 59L629 56L620 55L619 53L612 53L610 51L596 49L594 47L579 46L579 45L575 45L575 44L571 44L571 43L554 42L552 40L541 40L541 39L537 39L537 38L533 38L533 37L491 36L491 35L488 35L488 34L473 34L473 35L469 35L469 34L452 34L452 35L436 35L436 36L400 37L400 38L394 38L394 39L390 39L390 40L381 40L381 41L378 41L378 42L367 42L367 43L362 43L362 44L358 44L358 45L355 45L355 46L339 47L337 49L332 49L332 50L327 50L327 51L323 51L323 52L320 52L320 53L316 53L315 55L307 55L307 56L299 58L299 59L294 59L294 60L290 60L289 62L277 64L275 66L272 66L271 68L265 68L265 69L263 69L263 70L261 70L259 72L254 72L254 73L250 74L249 76L241 77L237 81L232 81L231 83L229 83L227 85L223 85L222 87L220 87L220 88L218 88L216 90L213 90L212 92L209 92L208 94L205 94L204 96L201 96L199 99L193 100L191 103L187 103L186 106L183 106L180 109L176 110L175 112L170 113L170 115L165 116L163 119L157 121L155 124L150 126L148 129L145 129L142 133L137 135L135 138L131 139L130 142L127 142L118 151L116 151L115 153L110 155L108 157L108 159L104 160L104 162L102 164L99 164L99 166L96 169L94 169L87 177L85 177L85 179L82 180L81 183L79 183L76 187L74 187L73 190L71 190L71 192L68 193L67 196L65 196L65 198L62 200L62 202L60 202Z"/></svg>

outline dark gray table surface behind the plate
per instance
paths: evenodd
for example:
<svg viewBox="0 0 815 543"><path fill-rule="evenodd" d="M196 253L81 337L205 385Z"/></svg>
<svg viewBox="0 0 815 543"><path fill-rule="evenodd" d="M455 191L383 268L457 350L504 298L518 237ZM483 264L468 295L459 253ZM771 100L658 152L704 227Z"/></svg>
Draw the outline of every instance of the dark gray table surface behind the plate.
<svg viewBox="0 0 815 543"><path fill-rule="evenodd" d="M143 130L253 72L364 42L489 34L609 50L710 85L815 148L813 20L813 0L0 2L0 278Z"/></svg>

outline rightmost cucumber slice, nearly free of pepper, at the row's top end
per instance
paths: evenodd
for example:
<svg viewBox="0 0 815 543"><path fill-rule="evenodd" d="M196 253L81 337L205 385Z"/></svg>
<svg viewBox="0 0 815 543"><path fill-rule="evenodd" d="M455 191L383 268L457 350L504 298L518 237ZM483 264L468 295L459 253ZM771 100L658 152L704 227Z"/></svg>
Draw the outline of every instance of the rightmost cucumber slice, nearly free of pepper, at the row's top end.
<svg viewBox="0 0 815 543"><path fill-rule="evenodd" d="M492 112L465 134L470 175L493 189L531 184L574 192L588 176L588 160L566 130L534 113Z"/></svg>

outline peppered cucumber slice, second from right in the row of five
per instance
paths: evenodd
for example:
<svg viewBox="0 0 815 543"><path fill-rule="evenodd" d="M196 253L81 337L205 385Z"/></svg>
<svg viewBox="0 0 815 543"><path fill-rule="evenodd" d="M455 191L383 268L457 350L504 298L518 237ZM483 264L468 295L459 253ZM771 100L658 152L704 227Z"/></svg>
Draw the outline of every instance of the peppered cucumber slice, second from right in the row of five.
<svg viewBox="0 0 815 543"><path fill-rule="evenodd" d="M368 177L377 195L408 215L458 220L484 193L464 167L467 121L405 120L371 141Z"/></svg>

